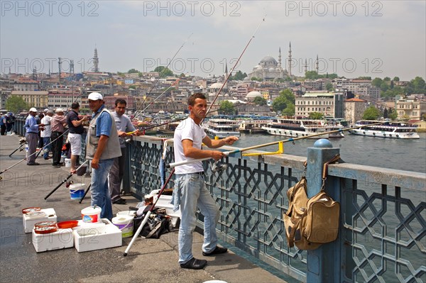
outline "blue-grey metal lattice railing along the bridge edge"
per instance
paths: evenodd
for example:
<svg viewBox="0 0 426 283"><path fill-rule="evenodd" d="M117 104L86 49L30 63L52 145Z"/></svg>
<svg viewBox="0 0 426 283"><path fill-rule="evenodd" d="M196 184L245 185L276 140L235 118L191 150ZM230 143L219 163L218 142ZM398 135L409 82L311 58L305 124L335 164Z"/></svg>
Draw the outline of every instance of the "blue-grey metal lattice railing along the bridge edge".
<svg viewBox="0 0 426 283"><path fill-rule="evenodd" d="M142 198L160 189L162 140L137 137L129 150L131 192ZM331 154L328 148L312 150ZM219 238L300 281L426 282L426 174L330 165L326 190L341 203L339 239L307 252L288 248L283 223L286 192L300 178L306 159L308 184L318 187L323 162L310 159L309 151L307 158L227 157L226 170L214 173L212 162L204 162L207 187L221 211ZM168 143L169 162L173 142ZM202 228L202 218L197 225Z"/></svg>

